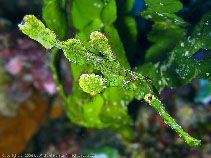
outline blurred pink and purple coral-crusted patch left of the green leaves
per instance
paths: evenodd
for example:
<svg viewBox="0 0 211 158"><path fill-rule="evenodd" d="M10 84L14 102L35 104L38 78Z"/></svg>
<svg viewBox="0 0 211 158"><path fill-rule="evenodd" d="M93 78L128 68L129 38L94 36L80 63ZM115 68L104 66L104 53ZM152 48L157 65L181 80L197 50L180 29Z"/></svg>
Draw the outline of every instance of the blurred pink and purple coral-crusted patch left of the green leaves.
<svg viewBox="0 0 211 158"><path fill-rule="evenodd" d="M49 63L49 54L34 41L20 38L12 33L0 34L0 64L6 68L10 77L9 96L22 102L34 90L54 95L57 86Z"/></svg>

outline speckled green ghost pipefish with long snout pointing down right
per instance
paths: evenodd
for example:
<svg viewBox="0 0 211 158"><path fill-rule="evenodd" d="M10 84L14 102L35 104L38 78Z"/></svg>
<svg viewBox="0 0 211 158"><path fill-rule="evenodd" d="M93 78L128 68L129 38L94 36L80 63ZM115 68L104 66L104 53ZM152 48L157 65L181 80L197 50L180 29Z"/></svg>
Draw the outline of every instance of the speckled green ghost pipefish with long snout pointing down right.
<svg viewBox="0 0 211 158"><path fill-rule="evenodd" d="M86 48L77 39L59 41L54 32L46 28L33 15L26 15L23 22L18 26L24 34L41 43L46 49L59 48L63 50L70 62L79 65L87 64L100 71L101 76L95 74L81 75L79 85L84 92L97 95L107 87L122 87L131 91L136 98L144 98L160 114L164 122L183 137L190 146L200 144L200 140L191 137L168 114L151 79L120 64L104 34L98 31L92 32L89 41L90 48Z"/></svg>

